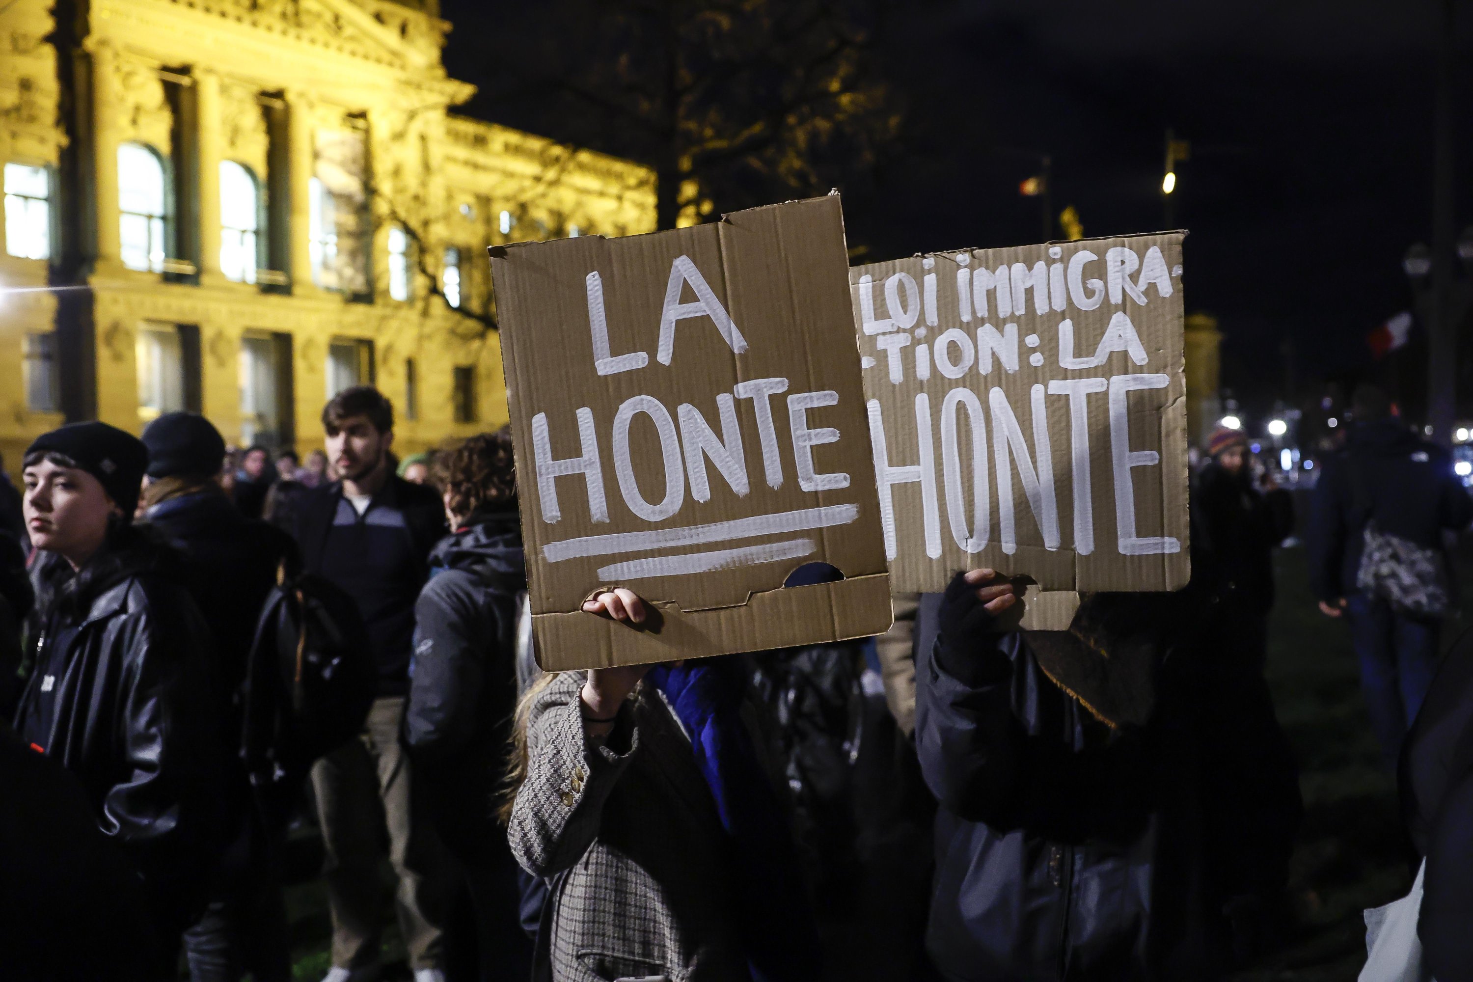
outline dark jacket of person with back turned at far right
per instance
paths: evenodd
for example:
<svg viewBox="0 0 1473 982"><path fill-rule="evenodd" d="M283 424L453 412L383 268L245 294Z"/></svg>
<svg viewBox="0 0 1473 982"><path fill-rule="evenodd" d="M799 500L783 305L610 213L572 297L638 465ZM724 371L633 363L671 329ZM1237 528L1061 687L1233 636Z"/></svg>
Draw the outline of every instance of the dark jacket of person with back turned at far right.
<svg viewBox="0 0 1473 982"><path fill-rule="evenodd" d="M1357 483L1368 508L1357 505ZM1309 512L1309 586L1321 601L1355 593L1367 521L1424 549L1442 530L1473 521L1473 499L1448 452L1396 420L1357 423L1346 448L1324 461Z"/></svg>

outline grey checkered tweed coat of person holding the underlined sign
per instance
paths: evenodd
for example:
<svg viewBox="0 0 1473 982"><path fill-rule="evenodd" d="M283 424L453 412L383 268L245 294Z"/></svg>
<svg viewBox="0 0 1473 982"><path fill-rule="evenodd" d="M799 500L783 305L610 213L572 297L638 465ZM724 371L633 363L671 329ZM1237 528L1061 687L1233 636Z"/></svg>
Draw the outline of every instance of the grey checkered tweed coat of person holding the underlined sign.
<svg viewBox="0 0 1473 982"><path fill-rule="evenodd" d="M529 873L566 872L548 897L552 978L748 982L725 832L689 739L641 686L608 739L586 741L582 685L583 673L563 673L533 704L508 826Z"/></svg>

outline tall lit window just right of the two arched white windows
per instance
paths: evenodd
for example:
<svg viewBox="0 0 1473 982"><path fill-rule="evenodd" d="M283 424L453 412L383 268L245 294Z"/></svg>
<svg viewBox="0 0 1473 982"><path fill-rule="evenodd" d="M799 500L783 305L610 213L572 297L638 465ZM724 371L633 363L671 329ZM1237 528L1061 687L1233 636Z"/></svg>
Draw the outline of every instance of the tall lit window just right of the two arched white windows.
<svg viewBox="0 0 1473 982"><path fill-rule="evenodd" d="M308 190L312 283L368 299L373 222L368 216L368 134L318 130Z"/></svg>

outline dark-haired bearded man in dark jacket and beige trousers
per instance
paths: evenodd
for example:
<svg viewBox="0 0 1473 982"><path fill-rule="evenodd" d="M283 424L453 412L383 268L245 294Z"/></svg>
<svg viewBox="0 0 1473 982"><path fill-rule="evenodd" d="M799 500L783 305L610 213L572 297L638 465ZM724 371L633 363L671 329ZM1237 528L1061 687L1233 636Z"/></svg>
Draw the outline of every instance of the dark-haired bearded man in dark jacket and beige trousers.
<svg viewBox="0 0 1473 982"><path fill-rule="evenodd" d="M384 826L415 982L443 982L446 860L411 808L412 769L399 724L409 685L414 604L429 576L430 548L445 534L445 506L435 489L390 470L393 406L377 389L340 392L323 409L323 428L327 456L342 477L302 501L296 537L306 570L358 601L379 667L379 698L361 739L312 767L333 916L333 969L326 982L377 975Z"/></svg>

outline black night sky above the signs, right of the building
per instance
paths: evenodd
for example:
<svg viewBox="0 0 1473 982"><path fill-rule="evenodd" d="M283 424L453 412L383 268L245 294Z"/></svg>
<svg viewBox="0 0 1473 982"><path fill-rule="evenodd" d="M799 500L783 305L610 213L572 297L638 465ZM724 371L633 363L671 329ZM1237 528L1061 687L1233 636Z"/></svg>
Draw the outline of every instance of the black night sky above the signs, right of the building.
<svg viewBox="0 0 1473 982"><path fill-rule="evenodd" d="M516 84L539 4L443 0L465 107L558 133ZM1460 56L1473 37L1463 4ZM1053 162L1052 211L1086 236L1162 227L1164 134L1177 169L1187 311L1226 334L1224 386L1249 408L1374 374L1365 334L1411 306L1401 258L1432 234L1435 0L927 0L897 4L879 69L907 103L903 146L846 191L865 259L1038 241L1018 183ZM545 41L548 35L538 38ZM1473 169L1473 72L1460 60L1458 175ZM717 202L717 208L726 208ZM1473 221L1460 180L1458 228ZM1055 225L1056 228L1056 225ZM1055 233L1058 234L1058 233ZM1420 330L1420 327L1418 327Z"/></svg>

